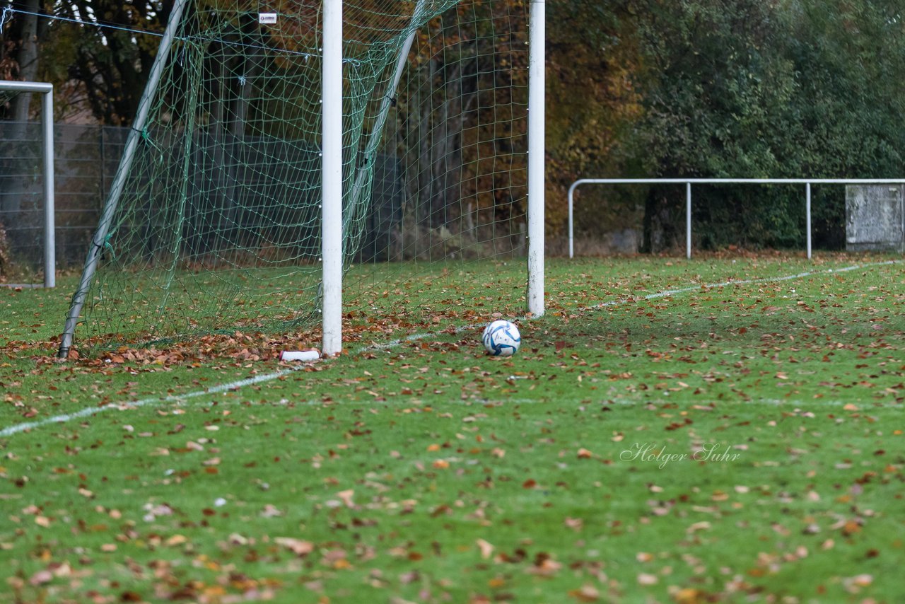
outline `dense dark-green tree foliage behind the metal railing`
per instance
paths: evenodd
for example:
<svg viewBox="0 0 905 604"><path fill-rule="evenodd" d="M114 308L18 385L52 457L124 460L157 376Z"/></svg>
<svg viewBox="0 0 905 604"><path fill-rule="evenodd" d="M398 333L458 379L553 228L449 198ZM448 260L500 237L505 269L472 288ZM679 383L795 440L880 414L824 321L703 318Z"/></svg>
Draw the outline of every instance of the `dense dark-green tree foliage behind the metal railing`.
<svg viewBox="0 0 905 604"><path fill-rule="evenodd" d="M643 173L662 177L894 177L901 174L905 32L890 0L637 0L644 69ZM821 192L822 195L825 195ZM804 240L800 190L708 188L700 244ZM842 189L815 203L817 242L841 243ZM653 188L645 243L677 243L681 195Z"/></svg>

